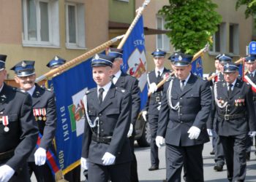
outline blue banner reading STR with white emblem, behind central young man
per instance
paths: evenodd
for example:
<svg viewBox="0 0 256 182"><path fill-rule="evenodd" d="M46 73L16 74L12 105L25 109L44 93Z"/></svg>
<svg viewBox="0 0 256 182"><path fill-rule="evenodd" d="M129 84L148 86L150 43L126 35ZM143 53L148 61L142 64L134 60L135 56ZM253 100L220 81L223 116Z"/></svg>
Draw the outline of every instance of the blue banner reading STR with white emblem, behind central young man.
<svg viewBox="0 0 256 182"><path fill-rule="evenodd" d="M146 105L148 98L147 70L146 70L146 50L143 29L143 17L141 16L135 27L132 29L123 47L122 71L135 76L140 87L140 109Z"/></svg>

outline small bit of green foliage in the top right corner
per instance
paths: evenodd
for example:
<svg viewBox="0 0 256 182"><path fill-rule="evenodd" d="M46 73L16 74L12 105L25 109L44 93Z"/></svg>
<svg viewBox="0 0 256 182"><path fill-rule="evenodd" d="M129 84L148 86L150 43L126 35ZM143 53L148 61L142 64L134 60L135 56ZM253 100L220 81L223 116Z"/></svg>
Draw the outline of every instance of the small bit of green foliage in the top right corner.
<svg viewBox="0 0 256 182"><path fill-rule="evenodd" d="M250 15L255 15L256 13L256 0L238 0L236 1L236 10L242 5L246 6L245 17L248 18Z"/></svg>

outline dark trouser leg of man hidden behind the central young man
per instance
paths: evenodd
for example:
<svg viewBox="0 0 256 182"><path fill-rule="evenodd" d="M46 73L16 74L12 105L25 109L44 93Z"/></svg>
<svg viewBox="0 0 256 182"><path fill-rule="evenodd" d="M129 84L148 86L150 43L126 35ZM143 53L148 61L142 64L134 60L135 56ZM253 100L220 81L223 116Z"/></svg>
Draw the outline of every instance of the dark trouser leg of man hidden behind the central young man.
<svg viewBox="0 0 256 182"><path fill-rule="evenodd" d="M135 137L131 136L129 138L129 143L131 146L131 151L132 151L132 162L131 162L131 182L138 182L139 178L138 178L138 172L137 172L137 159L135 156L135 149L134 149L134 142L135 142Z"/></svg>

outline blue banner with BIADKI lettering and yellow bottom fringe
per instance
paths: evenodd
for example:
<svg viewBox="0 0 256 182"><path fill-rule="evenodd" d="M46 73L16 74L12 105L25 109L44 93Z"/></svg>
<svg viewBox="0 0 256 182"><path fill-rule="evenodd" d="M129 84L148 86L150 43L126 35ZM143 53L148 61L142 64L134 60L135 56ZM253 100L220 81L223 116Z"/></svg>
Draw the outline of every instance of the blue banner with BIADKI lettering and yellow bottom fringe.
<svg viewBox="0 0 256 182"><path fill-rule="evenodd" d="M91 59L52 79L56 93L56 149L59 165L66 174L80 164L84 130L83 95L96 87Z"/></svg>

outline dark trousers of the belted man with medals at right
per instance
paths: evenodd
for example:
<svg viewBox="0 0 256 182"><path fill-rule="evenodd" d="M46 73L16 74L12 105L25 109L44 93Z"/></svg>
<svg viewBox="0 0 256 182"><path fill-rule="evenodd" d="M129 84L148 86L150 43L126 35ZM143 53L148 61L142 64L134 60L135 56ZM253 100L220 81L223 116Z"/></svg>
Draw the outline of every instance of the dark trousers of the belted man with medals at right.
<svg viewBox="0 0 256 182"><path fill-rule="evenodd" d="M227 179L244 181L246 175L246 134L219 136L219 138L227 164Z"/></svg>

